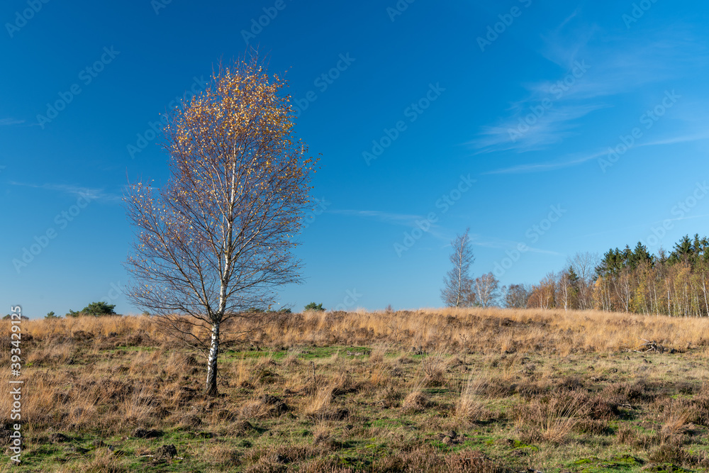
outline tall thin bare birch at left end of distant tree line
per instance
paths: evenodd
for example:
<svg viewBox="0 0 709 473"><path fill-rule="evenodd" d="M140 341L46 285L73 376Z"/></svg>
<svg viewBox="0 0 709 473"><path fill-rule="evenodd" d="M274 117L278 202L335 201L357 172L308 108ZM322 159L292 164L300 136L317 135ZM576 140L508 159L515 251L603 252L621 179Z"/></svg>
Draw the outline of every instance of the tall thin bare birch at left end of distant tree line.
<svg viewBox="0 0 709 473"><path fill-rule="evenodd" d="M475 257L470 247L469 233L470 228L466 228L465 233L456 235L450 242L452 246L450 262L453 267L443 278L443 289L441 289L441 299L447 306L468 307L475 301L473 281L470 277L470 267Z"/></svg>

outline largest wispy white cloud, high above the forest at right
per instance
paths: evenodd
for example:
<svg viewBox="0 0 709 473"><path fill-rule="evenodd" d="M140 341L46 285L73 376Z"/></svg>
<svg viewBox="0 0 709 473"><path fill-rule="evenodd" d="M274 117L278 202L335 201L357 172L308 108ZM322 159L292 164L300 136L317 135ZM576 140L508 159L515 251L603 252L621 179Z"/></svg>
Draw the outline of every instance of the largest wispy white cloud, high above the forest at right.
<svg viewBox="0 0 709 473"><path fill-rule="evenodd" d="M594 24L583 24L580 8L542 35L538 52L560 72L520 84L526 92L510 103L508 116L482 126L466 143L475 154L545 150L579 135L588 122L584 118L609 108L614 96L685 77L688 70L709 63L703 46L686 31L667 30L650 39L613 38Z"/></svg>

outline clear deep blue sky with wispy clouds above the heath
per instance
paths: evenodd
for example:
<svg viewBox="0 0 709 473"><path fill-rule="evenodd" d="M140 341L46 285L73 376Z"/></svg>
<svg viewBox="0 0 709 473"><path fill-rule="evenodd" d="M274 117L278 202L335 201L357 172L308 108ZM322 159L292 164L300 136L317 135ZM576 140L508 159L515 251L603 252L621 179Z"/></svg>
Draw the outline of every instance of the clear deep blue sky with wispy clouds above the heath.
<svg viewBox="0 0 709 473"><path fill-rule="evenodd" d="M123 188L164 182L151 123L247 41L322 153L282 304L440 306L466 227L503 284L709 233L708 4L409 1L4 2L4 310L139 312Z"/></svg>

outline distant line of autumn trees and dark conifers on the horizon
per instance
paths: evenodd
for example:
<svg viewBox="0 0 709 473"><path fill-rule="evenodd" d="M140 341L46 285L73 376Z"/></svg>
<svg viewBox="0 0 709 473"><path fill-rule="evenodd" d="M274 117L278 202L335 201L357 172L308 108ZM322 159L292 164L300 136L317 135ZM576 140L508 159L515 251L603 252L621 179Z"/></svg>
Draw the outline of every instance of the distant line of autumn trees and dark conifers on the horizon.
<svg viewBox="0 0 709 473"><path fill-rule="evenodd" d="M452 269L441 298L447 306L505 306L618 311L666 316L709 316L709 238L685 235L670 252L652 255L645 245L626 245L599 257L579 252L559 272L537 284L500 286L490 272L470 276L474 255L469 229L452 240Z"/></svg>

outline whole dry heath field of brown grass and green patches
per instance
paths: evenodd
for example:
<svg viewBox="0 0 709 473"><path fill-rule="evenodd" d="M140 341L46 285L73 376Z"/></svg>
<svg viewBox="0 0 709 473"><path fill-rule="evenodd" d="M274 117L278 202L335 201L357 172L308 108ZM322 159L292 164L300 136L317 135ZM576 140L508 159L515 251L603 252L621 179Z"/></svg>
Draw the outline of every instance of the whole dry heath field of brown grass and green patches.
<svg viewBox="0 0 709 473"><path fill-rule="evenodd" d="M430 309L283 314L205 362L147 317L23 321L1 472L709 469L709 320ZM0 382L10 375L2 321ZM644 340L654 342L645 345ZM646 351L650 350L650 351Z"/></svg>

